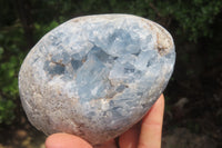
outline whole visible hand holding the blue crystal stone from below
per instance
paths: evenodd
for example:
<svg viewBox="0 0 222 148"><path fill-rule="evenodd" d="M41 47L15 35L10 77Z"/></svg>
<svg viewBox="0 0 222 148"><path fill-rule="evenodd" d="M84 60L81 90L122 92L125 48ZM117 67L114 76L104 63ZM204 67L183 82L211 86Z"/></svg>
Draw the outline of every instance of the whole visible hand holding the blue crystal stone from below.
<svg viewBox="0 0 222 148"><path fill-rule="evenodd" d="M164 97L157 100L140 125L133 126L119 137L120 148L161 148L161 134L164 111ZM48 137L47 148L92 148L83 139L68 134L54 134ZM118 148L114 140L110 140L99 148Z"/></svg>

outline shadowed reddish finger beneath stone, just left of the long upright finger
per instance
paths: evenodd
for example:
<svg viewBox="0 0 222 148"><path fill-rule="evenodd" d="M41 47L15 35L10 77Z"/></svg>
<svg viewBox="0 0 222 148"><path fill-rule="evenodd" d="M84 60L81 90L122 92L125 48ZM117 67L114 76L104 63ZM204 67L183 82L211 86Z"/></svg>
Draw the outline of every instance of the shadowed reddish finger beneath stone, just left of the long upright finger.
<svg viewBox="0 0 222 148"><path fill-rule="evenodd" d="M139 125L133 126L119 138L120 148L137 148L139 140Z"/></svg>

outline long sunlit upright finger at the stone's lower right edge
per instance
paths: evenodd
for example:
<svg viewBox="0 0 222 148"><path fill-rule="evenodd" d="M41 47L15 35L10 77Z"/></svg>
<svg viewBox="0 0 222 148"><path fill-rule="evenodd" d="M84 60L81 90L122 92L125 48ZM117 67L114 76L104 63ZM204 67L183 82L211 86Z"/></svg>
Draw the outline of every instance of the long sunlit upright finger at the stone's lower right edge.
<svg viewBox="0 0 222 148"><path fill-rule="evenodd" d="M157 100L142 120L138 148L161 148L164 97Z"/></svg>

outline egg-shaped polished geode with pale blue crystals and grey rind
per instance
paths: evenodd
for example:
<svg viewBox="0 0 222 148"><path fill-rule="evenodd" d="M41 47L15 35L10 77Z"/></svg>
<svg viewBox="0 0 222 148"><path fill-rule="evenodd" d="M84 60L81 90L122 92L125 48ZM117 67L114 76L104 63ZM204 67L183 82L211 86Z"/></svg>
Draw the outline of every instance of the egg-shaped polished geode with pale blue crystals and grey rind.
<svg viewBox="0 0 222 148"><path fill-rule="evenodd" d="M48 32L19 73L30 122L92 145L138 122L165 88L174 66L170 33L131 14L71 19Z"/></svg>

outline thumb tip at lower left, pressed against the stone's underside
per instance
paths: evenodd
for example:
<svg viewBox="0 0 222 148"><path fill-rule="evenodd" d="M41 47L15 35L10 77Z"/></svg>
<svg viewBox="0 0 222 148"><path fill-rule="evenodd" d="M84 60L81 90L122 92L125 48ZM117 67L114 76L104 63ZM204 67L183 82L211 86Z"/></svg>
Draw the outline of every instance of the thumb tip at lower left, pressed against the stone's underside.
<svg viewBox="0 0 222 148"><path fill-rule="evenodd" d="M73 135L54 134L47 138L46 148L92 148L92 146Z"/></svg>

